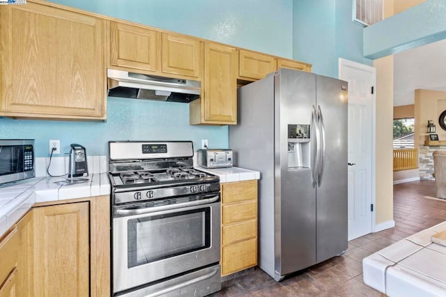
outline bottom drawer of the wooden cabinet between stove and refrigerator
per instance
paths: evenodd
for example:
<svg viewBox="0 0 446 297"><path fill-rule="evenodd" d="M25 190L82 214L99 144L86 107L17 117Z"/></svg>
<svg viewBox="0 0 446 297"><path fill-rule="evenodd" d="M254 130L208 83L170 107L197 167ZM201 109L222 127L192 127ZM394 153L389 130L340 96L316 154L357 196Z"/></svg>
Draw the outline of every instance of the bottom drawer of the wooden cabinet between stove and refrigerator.
<svg viewBox="0 0 446 297"><path fill-rule="evenodd" d="M257 240L229 245L222 251L222 275L235 273L257 264Z"/></svg>

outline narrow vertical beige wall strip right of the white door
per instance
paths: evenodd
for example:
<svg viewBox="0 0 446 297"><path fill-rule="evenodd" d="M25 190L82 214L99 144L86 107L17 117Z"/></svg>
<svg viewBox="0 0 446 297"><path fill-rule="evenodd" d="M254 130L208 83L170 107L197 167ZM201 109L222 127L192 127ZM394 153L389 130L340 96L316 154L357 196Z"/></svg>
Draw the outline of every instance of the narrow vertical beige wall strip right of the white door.
<svg viewBox="0 0 446 297"><path fill-rule="evenodd" d="M376 224L393 220L393 56L376 68Z"/></svg>

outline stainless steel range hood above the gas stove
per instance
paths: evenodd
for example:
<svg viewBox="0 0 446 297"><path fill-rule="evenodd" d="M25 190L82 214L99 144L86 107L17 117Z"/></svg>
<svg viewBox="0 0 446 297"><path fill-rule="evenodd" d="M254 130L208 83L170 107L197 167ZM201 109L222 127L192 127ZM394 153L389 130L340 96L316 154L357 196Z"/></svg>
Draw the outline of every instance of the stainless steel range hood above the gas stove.
<svg viewBox="0 0 446 297"><path fill-rule="evenodd" d="M189 103L200 97L201 82L107 69L108 96Z"/></svg>

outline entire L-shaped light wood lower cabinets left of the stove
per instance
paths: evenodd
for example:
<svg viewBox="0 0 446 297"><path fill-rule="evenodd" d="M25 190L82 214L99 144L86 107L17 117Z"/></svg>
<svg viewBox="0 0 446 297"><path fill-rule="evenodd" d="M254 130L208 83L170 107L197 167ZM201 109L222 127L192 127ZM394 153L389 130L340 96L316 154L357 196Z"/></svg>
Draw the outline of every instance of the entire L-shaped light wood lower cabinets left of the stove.
<svg viewBox="0 0 446 297"><path fill-rule="evenodd" d="M110 296L109 196L31 208L0 238L3 296Z"/></svg>

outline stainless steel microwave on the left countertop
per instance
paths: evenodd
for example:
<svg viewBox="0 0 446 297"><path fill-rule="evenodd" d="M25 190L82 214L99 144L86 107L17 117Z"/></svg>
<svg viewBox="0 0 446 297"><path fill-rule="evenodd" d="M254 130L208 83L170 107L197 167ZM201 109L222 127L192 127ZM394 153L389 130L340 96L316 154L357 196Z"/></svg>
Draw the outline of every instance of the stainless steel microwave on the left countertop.
<svg viewBox="0 0 446 297"><path fill-rule="evenodd" d="M0 183L36 176L34 139L0 139Z"/></svg>

